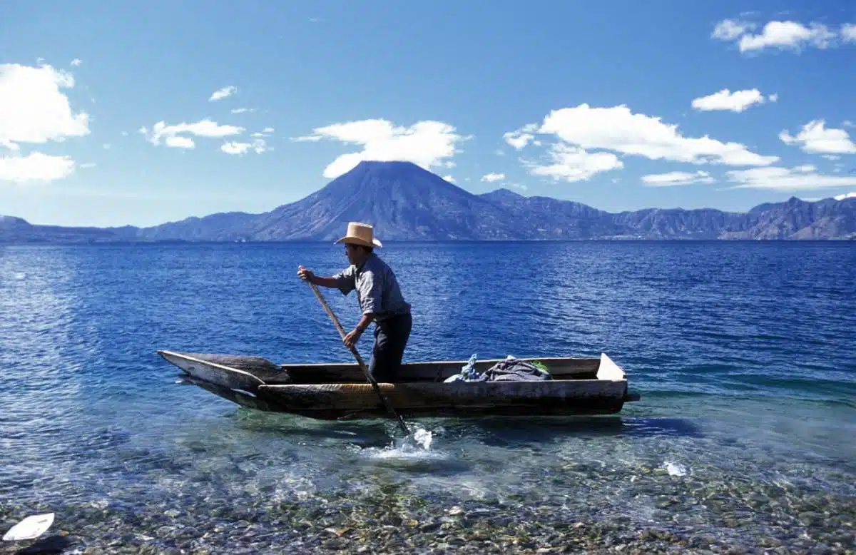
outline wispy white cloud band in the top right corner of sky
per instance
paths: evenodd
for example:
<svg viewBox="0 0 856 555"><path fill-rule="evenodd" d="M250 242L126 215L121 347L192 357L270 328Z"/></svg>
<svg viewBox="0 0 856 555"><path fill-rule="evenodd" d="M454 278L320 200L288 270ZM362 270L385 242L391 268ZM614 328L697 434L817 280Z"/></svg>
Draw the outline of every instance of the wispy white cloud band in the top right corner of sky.
<svg viewBox="0 0 856 555"><path fill-rule="evenodd" d="M741 52L764 49L800 52L809 46L819 49L835 47L839 45L839 39L844 43L856 41L856 26L850 23L841 26L841 33L817 22L804 25L797 21L769 21L760 33L752 34L755 27L751 22L723 20L716 24L711 36L736 42Z"/></svg>

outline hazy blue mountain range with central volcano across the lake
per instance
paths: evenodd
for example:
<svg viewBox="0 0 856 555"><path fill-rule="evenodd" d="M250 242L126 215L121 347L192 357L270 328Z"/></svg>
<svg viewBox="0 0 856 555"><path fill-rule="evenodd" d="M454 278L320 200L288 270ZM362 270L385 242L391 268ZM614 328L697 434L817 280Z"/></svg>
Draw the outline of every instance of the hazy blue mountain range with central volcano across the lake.
<svg viewBox="0 0 856 555"><path fill-rule="evenodd" d="M383 240L856 239L856 198L791 198L749 212L603 212L507 189L471 194L409 162L362 162L271 212L227 212L149 228L63 228L0 217L0 242L332 241L350 221Z"/></svg>

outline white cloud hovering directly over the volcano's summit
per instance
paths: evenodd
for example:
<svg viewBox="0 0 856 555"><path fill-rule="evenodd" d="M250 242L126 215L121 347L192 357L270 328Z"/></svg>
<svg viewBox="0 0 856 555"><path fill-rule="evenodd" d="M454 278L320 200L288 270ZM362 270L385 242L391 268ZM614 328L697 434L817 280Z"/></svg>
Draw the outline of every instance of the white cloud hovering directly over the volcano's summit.
<svg viewBox="0 0 856 555"><path fill-rule="evenodd" d="M272 129L271 129L272 130ZM338 140L362 147L360 152L342 154L324 169L324 177L335 178L354 169L363 160L407 161L425 170L448 167L447 158L458 152L455 146L468 137L455 133L449 123L424 121L410 127L394 126L383 119L334 123L316 128L311 135L293 140Z"/></svg>

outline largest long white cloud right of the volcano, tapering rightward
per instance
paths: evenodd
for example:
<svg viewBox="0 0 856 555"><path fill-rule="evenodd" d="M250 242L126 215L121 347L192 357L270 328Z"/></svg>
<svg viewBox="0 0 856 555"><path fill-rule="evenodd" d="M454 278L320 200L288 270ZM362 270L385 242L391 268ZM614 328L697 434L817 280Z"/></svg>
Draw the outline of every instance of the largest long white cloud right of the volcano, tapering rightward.
<svg viewBox="0 0 856 555"><path fill-rule="evenodd" d="M769 165L779 159L761 156L740 143L723 143L707 135L684 137L677 125L663 123L659 117L633 114L624 104L610 108L580 104L575 108L552 110L540 126L530 123L507 133L506 138L523 142L526 137L526 143L532 141L534 145L537 142L533 140L534 134L553 134L560 140L551 147L554 164L541 166L537 173L566 178L586 179L593 175L592 171L623 167L612 152L586 152L590 149L692 164Z"/></svg>

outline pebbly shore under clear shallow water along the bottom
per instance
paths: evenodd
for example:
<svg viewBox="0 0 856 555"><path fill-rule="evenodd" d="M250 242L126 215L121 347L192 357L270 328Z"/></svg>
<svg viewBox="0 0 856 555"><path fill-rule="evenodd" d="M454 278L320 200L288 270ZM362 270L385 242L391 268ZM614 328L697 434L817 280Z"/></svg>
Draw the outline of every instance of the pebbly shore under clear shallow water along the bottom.
<svg viewBox="0 0 856 555"><path fill-rule="evenodd" d="M574 479L566 470L552 479ZM624 485L582 477L601 493L595 503L544 493L549 483L477 499L413 492L407 480L145 503L121 492L76 504L4 502L3 531L37 512L56 521L39 540L4 542L0 553L856 553L853 496L647 470ZM627 496L650 496L650 514L623 514Z"/></svg>

